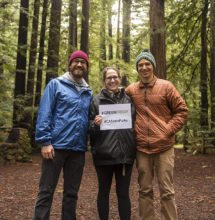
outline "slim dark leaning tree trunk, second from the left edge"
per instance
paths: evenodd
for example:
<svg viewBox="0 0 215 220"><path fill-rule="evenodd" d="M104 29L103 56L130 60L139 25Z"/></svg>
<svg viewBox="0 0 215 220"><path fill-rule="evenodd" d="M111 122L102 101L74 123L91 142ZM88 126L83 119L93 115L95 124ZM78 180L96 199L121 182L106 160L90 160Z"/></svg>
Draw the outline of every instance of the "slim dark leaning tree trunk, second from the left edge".
<svg viewBox="0 0 215 220"><path fill-rule="evenodd" d="M40 0L34 0L34 13L31 31L31 46L29 56L29 67L28 67L28 80L27 80L27 97L26 106L28 110L25 112L26 126L31 128L32 126L32 107L34 99L34 75L36 71L36 55L37 55L37 36L38 36L38 19L40 11ZM31 129L30 129L31 130Z"/></svg>

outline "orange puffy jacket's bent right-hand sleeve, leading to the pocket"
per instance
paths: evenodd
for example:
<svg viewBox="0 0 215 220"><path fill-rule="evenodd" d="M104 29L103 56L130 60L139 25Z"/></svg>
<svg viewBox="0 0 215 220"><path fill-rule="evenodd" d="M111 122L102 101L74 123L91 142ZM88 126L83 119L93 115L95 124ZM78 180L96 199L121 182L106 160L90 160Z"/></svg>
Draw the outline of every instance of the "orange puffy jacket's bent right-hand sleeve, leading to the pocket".
<svg viewBox="0 0 215 220"><path fill-rule="evenodd" d="M170 83L167 91L167 99L169 107L172 111L172 118L168 122L171 133L175 134L186 123L188 118L188 108L174 85Z"/></svg>

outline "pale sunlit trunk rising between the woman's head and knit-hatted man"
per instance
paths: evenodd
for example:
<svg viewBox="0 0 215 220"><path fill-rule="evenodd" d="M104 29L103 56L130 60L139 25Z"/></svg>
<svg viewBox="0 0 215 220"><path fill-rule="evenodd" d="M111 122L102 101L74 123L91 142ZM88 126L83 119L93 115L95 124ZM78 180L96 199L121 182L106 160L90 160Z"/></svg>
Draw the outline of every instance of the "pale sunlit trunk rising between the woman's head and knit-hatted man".
<svg viewBox="0 0 215 220"><path fill-rule="evenodd" d="M130 62L131 0L123 0L122 59Z"/></svg>

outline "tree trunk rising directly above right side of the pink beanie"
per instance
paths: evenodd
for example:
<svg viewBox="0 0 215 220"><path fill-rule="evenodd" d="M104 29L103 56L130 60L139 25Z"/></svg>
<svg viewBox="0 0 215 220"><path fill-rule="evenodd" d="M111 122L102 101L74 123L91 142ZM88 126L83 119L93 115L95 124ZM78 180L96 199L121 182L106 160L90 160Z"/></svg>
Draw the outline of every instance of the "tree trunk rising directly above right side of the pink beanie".
<svg viewBox="0 0 215 220"><path fill-rule="evenodd" d="M90 2L89 0L82 1L82 20L81 20L81 50L89 53L89 16Z"/></svg>

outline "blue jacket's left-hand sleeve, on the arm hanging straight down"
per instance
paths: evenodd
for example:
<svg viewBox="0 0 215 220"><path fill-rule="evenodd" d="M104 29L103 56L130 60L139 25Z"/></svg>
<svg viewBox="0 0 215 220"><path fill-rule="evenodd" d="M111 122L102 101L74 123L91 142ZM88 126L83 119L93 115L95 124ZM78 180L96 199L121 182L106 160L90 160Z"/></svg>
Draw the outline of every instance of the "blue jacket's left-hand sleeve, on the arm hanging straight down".
<svg viewBox="0 0 215 220"><path fill-rule="evenodd" d="M42 146L52 144L51 130L56 102L55 96L55 83L52 80L43 93L37 116L35 140Z"/></svg>

